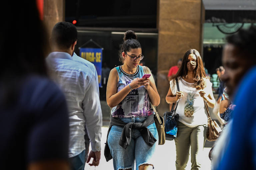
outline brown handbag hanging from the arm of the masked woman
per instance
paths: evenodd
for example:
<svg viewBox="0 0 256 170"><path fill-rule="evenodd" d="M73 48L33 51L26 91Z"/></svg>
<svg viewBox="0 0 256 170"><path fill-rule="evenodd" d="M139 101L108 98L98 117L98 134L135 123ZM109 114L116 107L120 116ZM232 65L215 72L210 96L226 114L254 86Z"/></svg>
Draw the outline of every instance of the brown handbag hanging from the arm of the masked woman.
<svg viewBox="0 0 256 170"><path fill-rule="evenodd" d="M222 131L219 125L216 123L216 121L213 121L210 117L210 113L208 110L208 106L206 102L204 101L204 106L207 111L207 116L208 116L208 129L207 129L207 134L206 138L208 141L215 141L220 135L220 132Z"/></svg>

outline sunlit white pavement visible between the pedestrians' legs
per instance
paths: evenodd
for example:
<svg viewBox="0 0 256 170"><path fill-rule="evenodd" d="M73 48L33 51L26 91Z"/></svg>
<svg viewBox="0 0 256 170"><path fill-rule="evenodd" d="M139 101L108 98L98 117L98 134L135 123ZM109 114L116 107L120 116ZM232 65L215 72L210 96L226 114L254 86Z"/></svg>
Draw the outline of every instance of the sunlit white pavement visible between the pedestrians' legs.
<svg viewBox="0 0 256 170"><path fill-rule="evenodd" d="M104 147L107 138L107 127L102 127L102 138L101 138L101 159L100 164L96 168L90 167L88 164L85 164L85 170L111 170L113 169L113 159L110 161L106 161L104 157ZM204 153L202 155L202 169L210 170L211 169L211 161L208 157L209 151L211 148L204 148ZM90 148L91 150L91 148ZM154 170L175 170L175 159L176 159L176 149L174 141L166 140L164 145L158 145L158 148L154 155L156 159L156 164L154 165ZM92 162L92 159L91 161ZM186 170L191 169L190 156L188 160L188 164Z"/></svg>

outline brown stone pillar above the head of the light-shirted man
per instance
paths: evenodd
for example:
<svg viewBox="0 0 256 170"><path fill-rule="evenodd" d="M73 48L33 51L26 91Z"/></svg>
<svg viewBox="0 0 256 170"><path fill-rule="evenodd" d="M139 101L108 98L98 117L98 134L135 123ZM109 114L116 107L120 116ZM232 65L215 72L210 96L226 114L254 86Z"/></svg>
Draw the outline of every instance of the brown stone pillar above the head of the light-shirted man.
<svg viewBox="0 0 256 170"><path fill-rule="evenodd" d="M44 0L44 18L48 34L57 22L65 21L65 0Z"/></svg>

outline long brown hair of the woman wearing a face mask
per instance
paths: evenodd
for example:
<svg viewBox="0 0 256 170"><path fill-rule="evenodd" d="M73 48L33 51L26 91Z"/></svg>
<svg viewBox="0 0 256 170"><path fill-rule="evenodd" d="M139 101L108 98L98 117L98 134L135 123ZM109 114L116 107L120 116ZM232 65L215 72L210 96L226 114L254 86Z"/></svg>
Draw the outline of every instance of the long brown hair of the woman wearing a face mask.
<svg viewBox="0 0 256 170"><path fill-rule="evenodd" d="M206 86L205 80L203 78L206 78L205 71L204 71L204 65L202 58L199 54L199 52L196 49L189 49L186 51L186 53L183 56L182 64L174 76L171 77L171 79L175 79L178 77L185 78L188 74L188 68L187 68L187 59L189 54L195 54L196 56L196 68L194 69L194 80L195 80L195 88L200 90L204 89Z"/></svg>

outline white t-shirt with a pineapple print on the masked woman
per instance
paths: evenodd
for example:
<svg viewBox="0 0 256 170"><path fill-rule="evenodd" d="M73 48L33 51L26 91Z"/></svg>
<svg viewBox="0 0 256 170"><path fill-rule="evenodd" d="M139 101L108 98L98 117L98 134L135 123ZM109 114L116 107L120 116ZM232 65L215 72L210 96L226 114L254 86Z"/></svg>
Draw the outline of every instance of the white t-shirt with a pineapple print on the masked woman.
<svg viewBox="0 0 256 170"><path fill-rule="evenodd" d="M204 110L204 101L199 92L204 91L206 96L212 91L212 83L205 79L206 87L203 90L197 90L194 83L188 83L183 78L178 78L180 91L184 96L180 99L176 113L179 114L179 122L188 127L207 125L207 115ZM176 81L170 81L170 88L173 95L177 93Z"/></svg>

